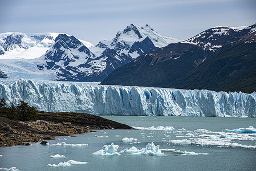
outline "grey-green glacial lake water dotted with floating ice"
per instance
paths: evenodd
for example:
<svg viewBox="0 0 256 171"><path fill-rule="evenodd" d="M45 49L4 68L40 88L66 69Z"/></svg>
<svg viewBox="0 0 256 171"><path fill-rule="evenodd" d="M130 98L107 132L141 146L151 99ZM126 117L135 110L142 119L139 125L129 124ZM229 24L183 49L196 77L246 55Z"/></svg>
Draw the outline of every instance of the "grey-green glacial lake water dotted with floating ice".
<svg viewBox="0 0 256 171"><path fill-rule="evenodd" d="M16 167L19 170L256 170L256 133L225 131L225 129L248 128L249 126L256 128L256 118L103 117L140 127L140 129L97 130L96 133L76 135L77 137L56 137L56 140L48 140L50 145L34 143L30 146L0 148L0 168ZM124 139L125 137L127 139ZM123 139L126 141L122 141ZM159 149L161 153L164 153L163 155L157 155L153 153L153 150L152 153L147 153L151 155L121 152L132 146L140 150L152 142L160 145ZM111 143L119 145L116 152L120 155L92 154ZM65 157L55 156L56 154ZM79 164L78 161L87 163ZM54 167L52 166L54 164L67 166Z"/></svg>

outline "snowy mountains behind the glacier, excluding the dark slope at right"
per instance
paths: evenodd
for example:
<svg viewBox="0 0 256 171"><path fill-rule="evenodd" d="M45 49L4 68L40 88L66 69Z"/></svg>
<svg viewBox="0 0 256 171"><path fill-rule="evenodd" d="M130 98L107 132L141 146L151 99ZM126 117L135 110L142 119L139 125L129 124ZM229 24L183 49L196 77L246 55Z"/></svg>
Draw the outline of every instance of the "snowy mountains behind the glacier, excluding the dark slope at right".
<svg viewBox="0 0 256 171"><path fill-rule="evenodd" d="M7 32L0 34L0 78L101 82L144 52L180 41L133 24L96 46L67 34Z"/></svg>

